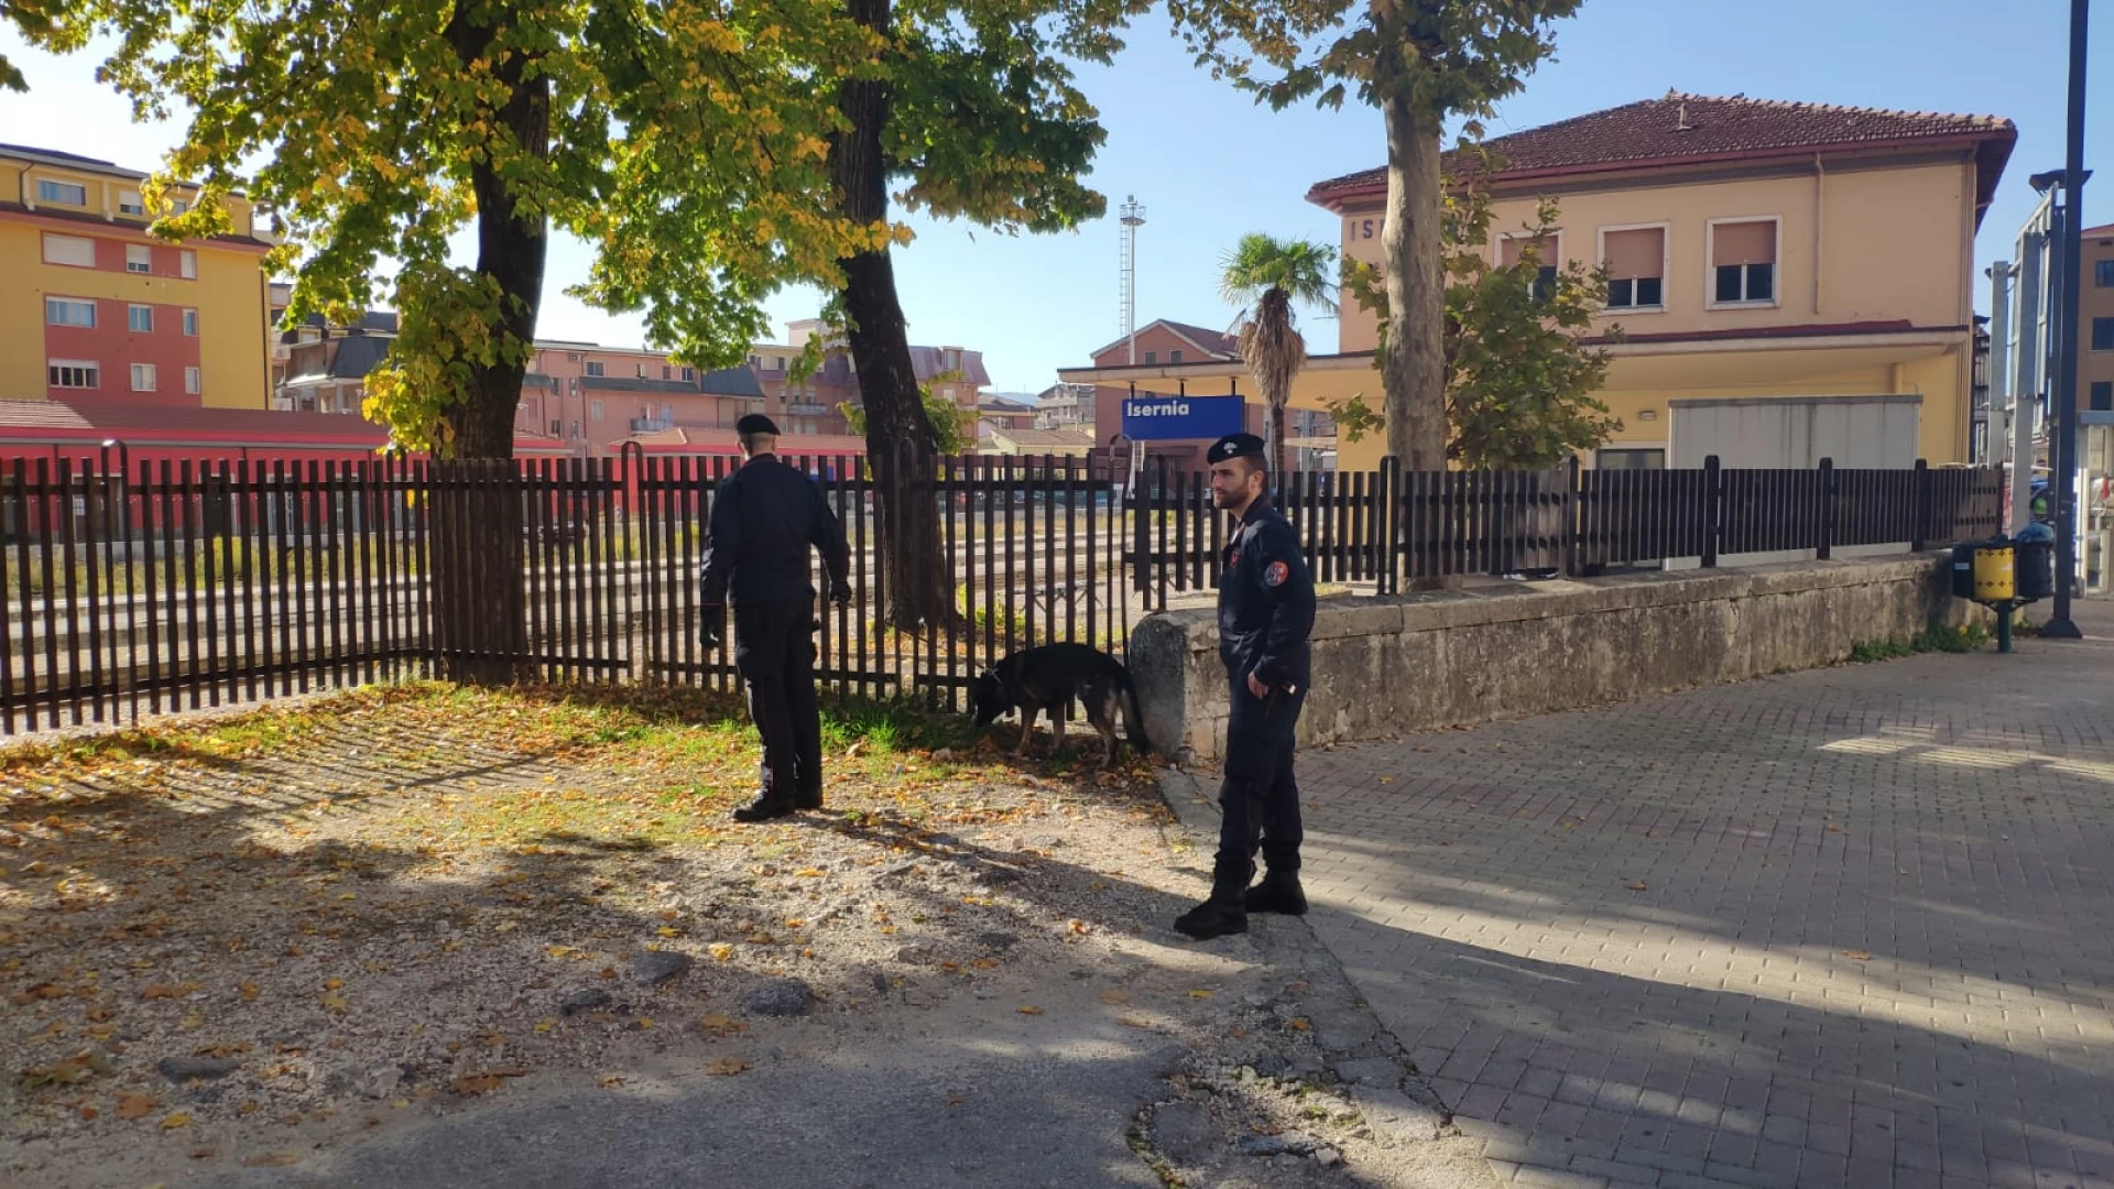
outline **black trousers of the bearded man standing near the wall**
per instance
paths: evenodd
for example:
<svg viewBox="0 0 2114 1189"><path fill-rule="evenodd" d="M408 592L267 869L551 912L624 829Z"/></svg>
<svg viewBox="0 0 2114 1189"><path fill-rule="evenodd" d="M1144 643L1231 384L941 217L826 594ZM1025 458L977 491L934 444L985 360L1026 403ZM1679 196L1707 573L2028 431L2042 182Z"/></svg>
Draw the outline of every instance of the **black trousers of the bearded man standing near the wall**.
<svg viewBox="0 0 2114 1189"><path fill-rule="evenodd" d="M1256 874L1256 846L1273 872L1300 870L1300 785L1292 776L1292 728L1306 705L1306 683L1258 698L1247 677L1232 679L1226 719L1226 779L1218 787L1218 859L1211 891L1237 893Z"/></svg>

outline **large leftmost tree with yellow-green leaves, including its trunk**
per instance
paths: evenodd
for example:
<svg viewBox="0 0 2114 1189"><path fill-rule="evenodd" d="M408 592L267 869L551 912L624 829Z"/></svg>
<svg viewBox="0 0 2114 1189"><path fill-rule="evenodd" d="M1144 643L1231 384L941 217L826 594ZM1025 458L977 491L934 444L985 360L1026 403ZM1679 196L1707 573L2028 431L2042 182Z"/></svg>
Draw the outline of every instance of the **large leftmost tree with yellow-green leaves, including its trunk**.
<svg viewBox="0 0 2114 1189"><path fill-rule="evenodd" d="M759 300L886 243L831 201L835 95L875 36L829 0L36 0L6 11L57 51L114 36L101 76L142 116L188 114L148 184L194 180L167 237L275 212L290 319L393 305L368 417L446 459L507 459L552 226L598 248L581 292L647 311L700 364L740 358ZM476 260L450 237L476 231ZM393 264L393 275L376 271ZM448 484L435 650L457 679L524 673L520 506ZM467 561L465 561L467 559Z"/></svg>

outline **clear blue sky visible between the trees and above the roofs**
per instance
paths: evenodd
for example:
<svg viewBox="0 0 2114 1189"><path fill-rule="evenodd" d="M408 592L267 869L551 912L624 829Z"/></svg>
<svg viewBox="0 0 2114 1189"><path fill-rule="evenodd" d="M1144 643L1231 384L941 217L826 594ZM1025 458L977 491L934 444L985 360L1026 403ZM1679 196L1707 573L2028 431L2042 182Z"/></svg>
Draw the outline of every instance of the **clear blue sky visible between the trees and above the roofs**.
<svg viewBox="0 0 2114 1189"><path fill-rule="evenodd" d="M1503 104L1492 133L1664 95L1668 87L1801 99L1974 112L2019 125L2019 148L1981 235L1981 262L2010 252L2034 203L2027 173L2063 163L2063 0L1586 0L1558 28L1558 57ZM1247 231L1336 239L1325 212L1304 201L1321 178L1378 165L1378 114L1298 108L1268 112L1190 66L1154 17L1131 32L1112 70L1082 72L1101 108L1108 144L1093 182L1114 209L1137 195L1148 222L1137 248L1139 322L1175 317L1226 326L1218 298L1220 254ZM95 57L27 53L11 34L0 53L25 63L32 95L0 93L0 140L110 157L150 167L180 129L135 127L129 110L93 80ZM2114 4L2093 21L2093 114L2087 216L2114 220ZM1082 364L1118 336L1116 224L1008 239L962 224L917 224L898 252L896 277L911 341L981 349L996 389L1036 391L1055 370ZM539 332L636 345L636 319L609 317L564 298L586 275L586 250L560 243ZM772 300L782 324L810 317L818 296ZM1987 298L1979 298L1987 305ZM1334 324L1309 313L1315 351L1336 343Z"/></svg>

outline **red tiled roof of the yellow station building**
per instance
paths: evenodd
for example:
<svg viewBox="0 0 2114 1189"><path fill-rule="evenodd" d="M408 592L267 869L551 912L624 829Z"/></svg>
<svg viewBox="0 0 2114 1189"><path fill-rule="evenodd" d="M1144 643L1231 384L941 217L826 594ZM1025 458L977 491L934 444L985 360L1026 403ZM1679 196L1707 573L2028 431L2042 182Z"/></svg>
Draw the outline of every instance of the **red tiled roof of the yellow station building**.
<svg viewBox="0 0 2114 1189"><path fill-rule="evenodd" d="M2017 127L2000 116L1890 112L1668 91L1664 99L1643 99L1499 135L1484 146L1501 159L1497 180L1524 180L1653 165L1979 144L1981 199L1987 201L2017 138ZM1467 171L1471 161L1461 152L1448 152L1446 169ZM1332 205L1351 195L1380 193L1385 186L1387 169L1378 167L1317 182L1306 197Z"/></svg>

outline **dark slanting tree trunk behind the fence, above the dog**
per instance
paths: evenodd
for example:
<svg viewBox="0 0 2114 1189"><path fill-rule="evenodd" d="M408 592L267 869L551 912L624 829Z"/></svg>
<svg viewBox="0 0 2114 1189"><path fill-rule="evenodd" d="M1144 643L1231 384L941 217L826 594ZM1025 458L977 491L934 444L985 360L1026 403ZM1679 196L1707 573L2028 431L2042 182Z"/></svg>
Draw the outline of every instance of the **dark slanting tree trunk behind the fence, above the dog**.
<svg viewBox="0 0 2114 1189"><path fill-rule="evenodd" d="M850 4L854 21L884 36L890 34L890 8L892 0ZM854 78L837 97L850 129L831 138L829 165L839 212L863 224L888 218L888 161L882 154L888 102L888 85L879 78ZM939 626L956 618L932 487L939 449L917 394L896 269L888 248L860 252L841 267L852 366L867 406L867 461L879 508L884 616L901 630Z"/></svg>

